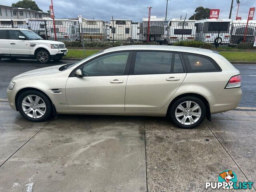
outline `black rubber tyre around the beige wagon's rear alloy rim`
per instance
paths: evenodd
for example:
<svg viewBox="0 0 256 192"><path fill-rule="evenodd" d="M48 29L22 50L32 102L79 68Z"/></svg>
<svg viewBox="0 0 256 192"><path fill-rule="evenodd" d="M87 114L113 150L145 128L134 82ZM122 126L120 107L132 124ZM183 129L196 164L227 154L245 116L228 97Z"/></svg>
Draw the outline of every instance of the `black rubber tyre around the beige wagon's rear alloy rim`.
<svg viewBox="0 0 256 192"><path fill-rule="evenodd" d="M198 104L200 106L200 109L201 109L201 116L200 118L194 123L194 124L189 124L189 125L185 125L185 124L182 124L180 123L177 119L176 119L176 116L175 116L175 111L176 111L176 108L182 104L183 102L186 102L186 101L192 101L192 102L195 102L196 104ZM180 110L181 111L181 110ZM196 111L196 110L195 110ZM187 111L186 111L187 112ZM193 113L193 112L191 112ZM186 114L186 113L185 113ZM172 122L179 128L184 128L184 129L191 129L191 128L194 128L198 125L200 125L203 121L204 121L204 118L206 116L206 106L204 104L204 102L202 100L200 100L199 98L197 97L194 97L194 96L186 96L186 97L182 97L182 98L179 98L178 100L176 100L172 106L170 107L170 111L169 111L169 115L170 115L170 118L172 120ZM190 114L188 114L187 116L189 116ZM194 117L193 115L191 116L191 118ZM181 117L182 118L182 117ZM186 121L187 121L188 118L186 118Z"/></svg>

